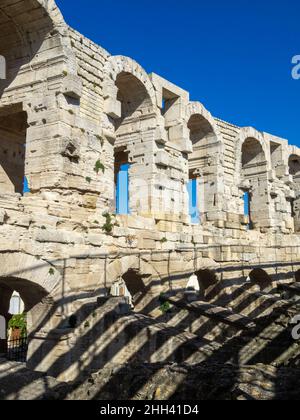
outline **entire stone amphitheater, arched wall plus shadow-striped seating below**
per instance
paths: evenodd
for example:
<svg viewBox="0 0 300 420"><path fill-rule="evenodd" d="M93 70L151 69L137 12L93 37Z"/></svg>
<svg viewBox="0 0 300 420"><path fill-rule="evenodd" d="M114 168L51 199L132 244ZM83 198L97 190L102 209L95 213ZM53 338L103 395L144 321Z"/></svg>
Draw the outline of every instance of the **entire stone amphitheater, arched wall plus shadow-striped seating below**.
<svg viewBox="0 0 300 420"><path fill-rule="evenodd" d="M299 397L300 149L54 0L1 0L0 55L0 315L28 323L0 399Z"/></svg>

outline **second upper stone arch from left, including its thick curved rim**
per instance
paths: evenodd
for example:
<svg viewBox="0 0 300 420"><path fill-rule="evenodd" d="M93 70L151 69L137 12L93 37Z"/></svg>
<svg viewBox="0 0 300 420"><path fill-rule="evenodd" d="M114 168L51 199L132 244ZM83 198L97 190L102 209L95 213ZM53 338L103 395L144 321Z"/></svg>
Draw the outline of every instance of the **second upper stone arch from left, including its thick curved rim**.
<svg viewBox="0 0 300 420"><path fill-rule="evenodd" d="M116 212L150 213L151 200L145 197L151 195L150 168L154 171L155 164L149 150L155 148L159 125L152 82L134 60L113 56L104 67L103 97L103 126L114 154L114 174L108 180L108 190L114 192Z"/></svg>

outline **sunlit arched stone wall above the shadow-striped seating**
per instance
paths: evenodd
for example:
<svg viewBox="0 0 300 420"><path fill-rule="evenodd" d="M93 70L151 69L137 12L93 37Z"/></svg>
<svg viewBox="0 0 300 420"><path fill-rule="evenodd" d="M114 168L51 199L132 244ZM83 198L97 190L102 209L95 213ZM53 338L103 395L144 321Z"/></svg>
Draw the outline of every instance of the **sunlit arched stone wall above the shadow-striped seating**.
<svg viewBox="0 0 300 420"><path fill-rule="evenodd" d="M186 289L200 270L219 276L227 305L254 269L274 286L295 281L297 147L217 119L180 87L111 56L69 28L52 0L2 0L0 23L0 313L19 291L31 353L45 357L41 342L60 342L78 308L114 285L151 314L160 293ZM124 164L129 214L116 215Z"/></svg>

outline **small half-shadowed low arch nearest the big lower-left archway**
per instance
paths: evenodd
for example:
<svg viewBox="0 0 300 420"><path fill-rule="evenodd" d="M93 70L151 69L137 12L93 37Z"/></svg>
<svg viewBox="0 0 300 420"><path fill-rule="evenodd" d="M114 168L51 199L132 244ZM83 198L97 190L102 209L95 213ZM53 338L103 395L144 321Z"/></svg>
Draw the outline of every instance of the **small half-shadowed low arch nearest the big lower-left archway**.
<svg viewBox="0 0 300 420"><path fill-rule="evenodd" d="M111 295L126 297L132 309L136 309L146 294L142 276L135 270L128 270L112 286Z"/></svg>

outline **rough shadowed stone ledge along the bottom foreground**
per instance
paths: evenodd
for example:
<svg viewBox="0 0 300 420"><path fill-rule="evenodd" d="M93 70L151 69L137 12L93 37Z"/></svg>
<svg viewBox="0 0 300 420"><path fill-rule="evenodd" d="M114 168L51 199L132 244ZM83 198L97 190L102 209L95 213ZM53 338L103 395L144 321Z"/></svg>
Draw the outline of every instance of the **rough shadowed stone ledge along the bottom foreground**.
<svg viewBox="0 0 300 420"><path fill-rule="evenodd" d="M9 372L14 380L2 378ZM257 365L110 365L65 384L22 365L0 362L1 400L298 400L299 369ZM8 375L7 375L8 376Z"/></svg>

